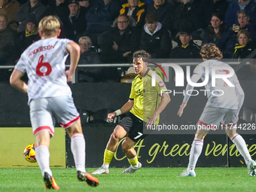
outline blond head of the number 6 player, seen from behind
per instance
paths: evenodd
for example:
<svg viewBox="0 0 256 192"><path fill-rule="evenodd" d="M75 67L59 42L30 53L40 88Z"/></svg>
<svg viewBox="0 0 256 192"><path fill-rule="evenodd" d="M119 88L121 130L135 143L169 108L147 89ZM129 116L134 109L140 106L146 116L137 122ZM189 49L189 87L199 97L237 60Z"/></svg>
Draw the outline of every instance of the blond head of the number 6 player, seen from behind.
<svg viewBox="0 0 256 192"><path fill-rule="evenodd" d="M41 19L38 25L38 30L41 31L43 35L53 37L59 31L60 23L56 16L47 16Z"/></svg>

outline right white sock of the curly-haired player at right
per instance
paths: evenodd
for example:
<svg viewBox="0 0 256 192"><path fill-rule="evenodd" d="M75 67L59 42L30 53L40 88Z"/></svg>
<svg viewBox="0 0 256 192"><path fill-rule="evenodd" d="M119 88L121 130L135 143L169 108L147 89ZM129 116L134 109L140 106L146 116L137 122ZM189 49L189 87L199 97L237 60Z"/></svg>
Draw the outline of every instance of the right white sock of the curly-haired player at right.
<svg viewBox="0 0 256 192"><path fill-rule="evenodd" d="M238 133L234 134L230 140L236 145L237 150L245 159L245 163L248 164L251 160L251 155L249 154L248 148L246 146L245 140Z"/></svg>

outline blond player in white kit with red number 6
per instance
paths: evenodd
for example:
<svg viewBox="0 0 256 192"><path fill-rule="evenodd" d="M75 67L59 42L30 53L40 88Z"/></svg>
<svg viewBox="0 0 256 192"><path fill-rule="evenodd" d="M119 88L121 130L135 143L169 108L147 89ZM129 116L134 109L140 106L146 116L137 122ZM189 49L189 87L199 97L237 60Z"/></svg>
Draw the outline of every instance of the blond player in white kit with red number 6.
<svg viewBox="0 0 256 192"><path fill-rule="evenodd" d="M38 32L41 40L23 52L11 75L10 83L29 96L30 120L37 145L35 157L44 176L46 188L59 189L49 163L50 138L54 134L55 121L66 128L71 138L78 180L96 187L99 180L85 170L84 134L72 91L67 84L78 65L80 47L69 39L58 39L59 27L59 20L53 16L44 17L40 21ZM65 71L65 61L69 54L70 67ZM29 77L28 85L20 79L25 72Z"/></svg>

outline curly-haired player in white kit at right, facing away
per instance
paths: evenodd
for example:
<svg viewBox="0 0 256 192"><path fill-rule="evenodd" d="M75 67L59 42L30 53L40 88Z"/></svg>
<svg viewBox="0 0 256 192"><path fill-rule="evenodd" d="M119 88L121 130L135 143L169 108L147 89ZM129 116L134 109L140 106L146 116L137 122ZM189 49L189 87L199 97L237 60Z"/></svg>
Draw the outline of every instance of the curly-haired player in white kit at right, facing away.
<svg viewBox="0 0 256 192"><path fill-rule="evenodd" d="M224 126L227 136L236 145L237 150L244 158L248 167L248 175L255 176L256 163L251 159L245 140L242 136L236 133L236 129L234 129L234 125L236 125L238 121L238 114L245 97L242 87L240 86L233 69L227 65L227 63L219 61L222 59L222 53L215 44L204 44L200 50L200 55L204 62L200 63L200 65L196 67L190 81L196 83L200 78L202 81L205 81L205 79L207 79L206 76L210 76L209 81L205 85L208 102L206 103L206 108L203 110L203 113L198 120L197 133L195 134L194 141L191 145L187 169L178 176L196 177L194 169L196 168L197 160L203 150L203 139L206 137L207 133L209 133L209 130L215 130L220 123ZM228 81L227 78L226 81L218 78L215 81L214 87L212 86L211 81L212 71L214 71L216 75L224 73L225 75L230 74L228 76L231 77ZM187 84L185 93L187 93L188 90L194 90L194 87ZM220 92L220 94L218 94L218 96L213 95L213 91L216 93ZM189 96L185 95L178 110L179 117L183 114L188 99Z"/></svg>

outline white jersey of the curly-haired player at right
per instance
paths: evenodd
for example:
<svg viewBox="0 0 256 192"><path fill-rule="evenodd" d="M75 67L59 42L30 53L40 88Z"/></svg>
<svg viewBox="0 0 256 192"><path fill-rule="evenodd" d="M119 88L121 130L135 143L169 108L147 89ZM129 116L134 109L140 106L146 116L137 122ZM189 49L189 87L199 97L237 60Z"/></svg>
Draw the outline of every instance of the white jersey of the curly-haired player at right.
<svg viewBox="0 0 256 192"><path fill-rule="evenodd" d="M232 69L231 66L229 66L227 63L221 62L215 59L206 60L205 62L200 63L200 65L198 65L194 69L194 75L195 74L200 75L200 78L202 81L205 81L206 79L206 68L209 69L209 81L205 85L205 88L207 90L206 91L207 98L208 98L206 106L238 109L239 102L236 96L235 87L230 87L222 78L216 78L215 87L212 87L212 67L213 66L217 67L217 70L215 71L215 74L217 75L221 75L221 74L227 75L230 73L230 70L221 69L220 66L225 66L227 68ZM220 67L220 69L218 69L218 67ZM236 84L239 84L236 74L234 74L231 78L228 78L228 80L231 82L231 84L233 84L233 86L236 86Z"/></svg>

